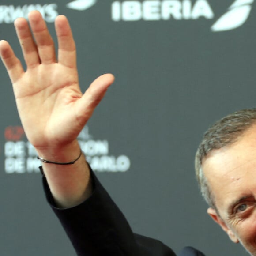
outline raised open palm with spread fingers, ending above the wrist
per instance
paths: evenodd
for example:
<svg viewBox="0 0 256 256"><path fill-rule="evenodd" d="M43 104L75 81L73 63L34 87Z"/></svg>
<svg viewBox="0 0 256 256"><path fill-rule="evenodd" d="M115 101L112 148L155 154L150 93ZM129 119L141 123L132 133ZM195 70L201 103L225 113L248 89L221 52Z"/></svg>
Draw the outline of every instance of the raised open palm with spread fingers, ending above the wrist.
<svg viewBox="0 0 256 256"><path fill-rule="evenodd" d="M72 143L94 108L113 83L113 75L98 77L85 94L79 89L76 50L65 16L55 22L58 59L53 39L38 11L15 21L27 70L6 41L0 42L0 55L8 71L19 115L30 143L38 150ZM34 39L32 37L34 35Z"/></svg>

